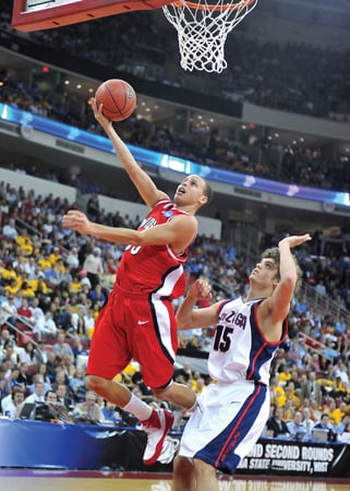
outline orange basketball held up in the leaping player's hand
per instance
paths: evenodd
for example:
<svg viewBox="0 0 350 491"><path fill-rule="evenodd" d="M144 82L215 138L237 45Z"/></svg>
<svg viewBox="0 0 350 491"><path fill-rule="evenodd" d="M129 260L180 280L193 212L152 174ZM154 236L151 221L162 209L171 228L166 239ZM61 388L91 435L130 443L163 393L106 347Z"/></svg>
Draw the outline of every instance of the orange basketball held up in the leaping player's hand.
<svg viewBox="0 0 350 491"><path fill-rule="evenodd" d="M136 94L124 80L111 79L102 82L95 94L97 106L104 105L102 113L111 121L123 121L136 107Z"/></svg>

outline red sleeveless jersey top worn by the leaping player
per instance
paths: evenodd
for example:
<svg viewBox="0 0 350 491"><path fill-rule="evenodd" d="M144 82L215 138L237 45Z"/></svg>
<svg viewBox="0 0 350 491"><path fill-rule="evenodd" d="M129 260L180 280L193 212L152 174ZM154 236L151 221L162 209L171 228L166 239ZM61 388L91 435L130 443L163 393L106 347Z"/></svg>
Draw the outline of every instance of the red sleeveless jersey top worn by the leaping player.
<svg viewBox="0 0 350 491"><path fill-rule="evenodd" d="M172 201L160 200L146 215L138 230L166 224L177 215L189 214L176 208ZM116 285L126 291L179 298L185 291L183 264L188 251L189 248L176 254L169 244L128 246L118 267Z"/></svg>

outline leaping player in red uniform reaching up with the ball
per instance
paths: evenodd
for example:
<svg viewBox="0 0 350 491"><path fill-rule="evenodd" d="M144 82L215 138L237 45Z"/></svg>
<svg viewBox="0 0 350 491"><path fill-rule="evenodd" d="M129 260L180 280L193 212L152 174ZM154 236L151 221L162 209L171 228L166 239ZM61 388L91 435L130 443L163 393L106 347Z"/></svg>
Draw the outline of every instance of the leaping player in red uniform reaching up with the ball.
<svg viewBox="0 0 350 491"><path fill-rule="evenodd" d="M126 246L113 289L96 322L86 385L141 421L147 433L144 463L150 465L160 455L172 414L150 408L113 378L132 359L136 360L145 384L158 399L186 409L195 406L196 396L191 388L172 381L178 335L171 301L185 290L183 264L198 230L194 214L210 201L213 193L203 178L188 176L171 201L137 165L112 123L104 117L102 105L97 107L92 98L90 106L150 212L137 230L93 223L76 209L63 216L63 227Z"/></svg>

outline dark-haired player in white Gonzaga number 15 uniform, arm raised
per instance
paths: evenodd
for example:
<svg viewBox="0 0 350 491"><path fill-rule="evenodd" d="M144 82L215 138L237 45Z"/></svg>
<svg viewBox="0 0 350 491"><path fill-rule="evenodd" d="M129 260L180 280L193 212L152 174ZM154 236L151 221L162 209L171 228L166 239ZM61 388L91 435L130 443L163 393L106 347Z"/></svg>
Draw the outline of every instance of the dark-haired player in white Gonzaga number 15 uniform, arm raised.
<svg viewBox="0 0 350 491"><path fill-rule="evenodd" d="M216 470L233 474L251 451L269 416L269 370L287 336L287 315L300 268L291 249L309 233L282 239L267 249L250 274L245 298L194 309L210 297L195 282L177 312L178 328L216 324L208 371L215 383L201 394L185 426L173 464L173 491L218 491Z"/></svg>

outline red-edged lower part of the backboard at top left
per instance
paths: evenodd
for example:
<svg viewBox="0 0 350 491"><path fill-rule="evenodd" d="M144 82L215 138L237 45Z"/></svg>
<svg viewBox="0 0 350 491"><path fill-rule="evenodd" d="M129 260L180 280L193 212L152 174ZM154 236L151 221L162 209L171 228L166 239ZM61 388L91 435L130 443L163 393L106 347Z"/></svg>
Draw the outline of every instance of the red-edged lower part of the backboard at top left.
<svg viewBox="0 0 350 491"><path fill-rule="evenodd" d="M170 0L13 0L12 27L33 32L135 10L160 9Z"/></svg>

